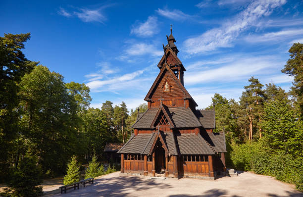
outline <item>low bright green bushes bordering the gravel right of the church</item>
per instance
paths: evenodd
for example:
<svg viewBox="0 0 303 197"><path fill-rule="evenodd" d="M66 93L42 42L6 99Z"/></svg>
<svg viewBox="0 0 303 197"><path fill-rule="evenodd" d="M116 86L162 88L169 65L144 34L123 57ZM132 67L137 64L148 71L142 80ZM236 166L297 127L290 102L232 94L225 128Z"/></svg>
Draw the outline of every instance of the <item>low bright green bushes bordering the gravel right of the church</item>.
<svg viewBox="0 0 303 197"><path fill-rule="evenodd" d="M275 176L278 180L296 184L303 190L303 157L295 158L284 151L266 148L265 141L231 143L230 160L238 170L254 171L257 174Z"/></svg>

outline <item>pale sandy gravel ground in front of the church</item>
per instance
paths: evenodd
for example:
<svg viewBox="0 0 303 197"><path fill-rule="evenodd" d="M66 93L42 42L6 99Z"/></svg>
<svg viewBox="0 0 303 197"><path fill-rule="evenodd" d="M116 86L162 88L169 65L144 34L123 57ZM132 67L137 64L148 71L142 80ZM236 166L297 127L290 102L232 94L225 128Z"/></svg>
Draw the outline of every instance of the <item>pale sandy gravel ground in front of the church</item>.
<svg viewBox="0 0 303 197"><path fill-rule="evenodd" d="M240 172L237 177L221 177L215 181L181 178L165 180L151 177L120 176L119 172L103 175L79 190L66 194L57 190L51 197L303 197L294 185L273 177Z"/></svg>

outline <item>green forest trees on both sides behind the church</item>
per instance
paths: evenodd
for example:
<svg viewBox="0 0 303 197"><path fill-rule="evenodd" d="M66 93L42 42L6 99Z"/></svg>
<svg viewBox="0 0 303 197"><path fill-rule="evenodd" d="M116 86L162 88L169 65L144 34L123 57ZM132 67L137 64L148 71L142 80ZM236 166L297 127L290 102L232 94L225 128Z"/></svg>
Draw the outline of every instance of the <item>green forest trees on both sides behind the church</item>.
<svg viewBox="0 0 303 197"><path fill-rule="evenodd" d="M66 172L72 155L88 163L105 159L106 143L125 143L131 125L146 104L128 111L126 104L105 101L90 108L85 84L64 83L59 73L22 53L30 34L0 37L0 182L29 160L35 176ZM283 73L294 76L291 91L249 79L241 98L215 94L215 132L225 132L228 167L275 176L303 190L303 44L295 43ZM139 110L138 110L139 109ZM15 176L16 175L16 176Z"/></svg>

